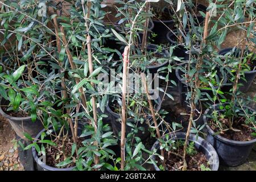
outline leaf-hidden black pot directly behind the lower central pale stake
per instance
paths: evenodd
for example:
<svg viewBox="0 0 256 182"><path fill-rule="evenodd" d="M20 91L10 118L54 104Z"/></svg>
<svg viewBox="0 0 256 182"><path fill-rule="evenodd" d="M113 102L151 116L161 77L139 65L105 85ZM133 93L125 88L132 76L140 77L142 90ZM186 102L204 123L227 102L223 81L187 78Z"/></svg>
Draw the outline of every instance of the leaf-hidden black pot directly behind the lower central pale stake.
<svg viewBox="0 0 256 182"><path fill-rule="evenodd" d="M159 111L160 108L161 108L161 105L160 105L161 99L160 99L160 97L158 97L157 102L158 103L155 105L155 112ZM153 104L154 104L154 101L153 101ZM115 113L114 111L112 111L112 109L110 109L109 104L106 106L106 112L109 115L108 120L111 122L113 133L114 133L115 136L118 137L119 131L121 131L121 121L120 121L121 120L121 114ZM148 115L147 119L149 121L152 121L152 116ZM133 118L127 119L126 122L137 123L137 121L135 121L135 119L133 119ZM138 133L135 134L135 137L141 138L142 141L146 140L148 138L148 136L150 135L150 132L148 131L148 125L146 123L146 119L144 119L143 123L138 121L137 127L143 127L144 132L141 131L141 130L138 130ZM128 133L130 133L132 129L133 128L131 126L126 125L126 135Z"/></svg>

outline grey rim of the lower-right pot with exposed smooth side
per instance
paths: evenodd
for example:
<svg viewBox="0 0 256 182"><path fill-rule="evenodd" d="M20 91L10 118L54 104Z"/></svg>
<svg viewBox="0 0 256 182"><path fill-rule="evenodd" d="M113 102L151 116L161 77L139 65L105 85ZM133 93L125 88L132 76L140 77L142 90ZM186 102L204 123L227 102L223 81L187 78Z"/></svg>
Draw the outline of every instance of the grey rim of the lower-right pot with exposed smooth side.
<svg viewBox="0 0 256 182"><path fill-rule="evenodd" d="M222 142L224 143L228 143L228 144L233 144L233 145L238 145L238 146L247 146L247 145L250 145L250 144L253 144L253 143L256 143L256 138L253 139L253 140L250 140L250 141L237 141L237 140L230 140L230 139L227 139L227 138L224 138L224 137L221 137L219 134L218 135L213 135L214 134L214 131L210 128L210 126L208 125L208 118L207 118L207 114L209 113L210 109L213 109L214 107L218 106L220 104L214 104L212 107L208 108L207 110L205 110L204 112L204 116L203 116L203 119L204 119L204 124L205 126L207 127L207 131L210 135L212 135L214 138L218 139L218 140L221 140ZM254 109L252 109L251 107L248 107L248 106L245 106L247 109L250 109L252 111L254 111Z"/></svg>

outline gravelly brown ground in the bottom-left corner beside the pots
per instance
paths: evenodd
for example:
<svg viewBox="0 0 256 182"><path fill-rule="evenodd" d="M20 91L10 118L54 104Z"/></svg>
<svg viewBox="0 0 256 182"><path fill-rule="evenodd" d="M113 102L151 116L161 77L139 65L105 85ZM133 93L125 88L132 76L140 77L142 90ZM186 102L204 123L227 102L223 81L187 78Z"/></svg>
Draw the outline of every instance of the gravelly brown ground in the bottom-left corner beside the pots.
<svg viewBox="0 0 256 182"><path fill-rule="evenodd" d="M24 170L14 140L15 132L10 123L0 115L0 171Z"/></svg>

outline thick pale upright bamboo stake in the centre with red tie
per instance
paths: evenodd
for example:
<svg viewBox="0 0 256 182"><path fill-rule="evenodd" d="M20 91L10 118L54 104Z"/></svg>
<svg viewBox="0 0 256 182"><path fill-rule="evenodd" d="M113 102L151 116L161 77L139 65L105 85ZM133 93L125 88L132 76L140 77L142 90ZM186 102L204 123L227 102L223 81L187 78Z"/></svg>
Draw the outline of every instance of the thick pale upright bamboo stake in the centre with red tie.
<svg viewBox="0 0 256 182"><path fill-rule="evenodd" d="M121 170L125 168L125 131L126 131L126 92L127 92L127 64L129 47L123 53L123 83L122 83L122 127L121 127Z"/></svg>

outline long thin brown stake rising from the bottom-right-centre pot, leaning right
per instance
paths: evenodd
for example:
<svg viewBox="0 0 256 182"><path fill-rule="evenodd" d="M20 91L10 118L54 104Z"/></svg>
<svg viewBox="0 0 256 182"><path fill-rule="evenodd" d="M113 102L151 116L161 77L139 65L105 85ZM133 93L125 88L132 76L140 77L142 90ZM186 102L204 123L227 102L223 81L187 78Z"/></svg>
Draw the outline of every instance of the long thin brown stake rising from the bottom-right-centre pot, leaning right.
<svg viewBox="0 0 256 182"><path fill-rule="evenodd" d="M207 36L208 36L208 24L209 24L209 18L210 18L210 13L209 11L207 12L206 16L205 16L205 23L204 23L204 35L203 35L203 42L201 44L201 49L203 48L203 46L205 46L207 44ZM199 57L199 61L197 62L196 68L197 68L197 73L196 73L196 80L195 86L199 86L200 85L200 80L199 80L199 69L201 68L201 65L203 64L203 59L204 59L204 55ZM185 143L184 143L184 147L183 147L183 171L187 170L187 162L186 162L186 154L187 154L187 147L188 147L188 138L190 135L190 131L191 131L191 126L192 126L192 122L193 122L193 118L194 118L194 114L195 114L195 97L196 97L196 92L195 90L193 90L193 88L191 88L191 113L190 113L190 117L189 117L189 123L188 123L188 130L186 133L186 137L185 137Z"/></svg>

